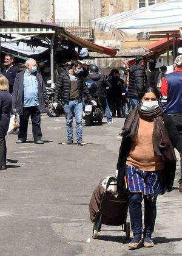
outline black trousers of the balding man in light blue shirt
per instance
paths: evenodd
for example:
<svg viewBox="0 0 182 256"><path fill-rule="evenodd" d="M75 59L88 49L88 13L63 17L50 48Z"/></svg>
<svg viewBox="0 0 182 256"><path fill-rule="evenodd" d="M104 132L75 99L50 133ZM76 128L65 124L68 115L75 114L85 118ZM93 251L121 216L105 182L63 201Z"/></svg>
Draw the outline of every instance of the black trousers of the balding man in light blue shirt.
<svg viewBox="0 0 182 256"><path fill-rule="evenodd" d="M27 140L29 117L31 117L32 120L32 133L34 141L41 140L41 113L39 110L39 106L24 107L23 115L19 116L18 138Z"/></svg>

